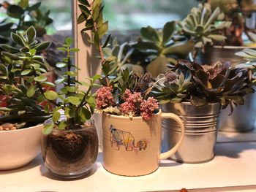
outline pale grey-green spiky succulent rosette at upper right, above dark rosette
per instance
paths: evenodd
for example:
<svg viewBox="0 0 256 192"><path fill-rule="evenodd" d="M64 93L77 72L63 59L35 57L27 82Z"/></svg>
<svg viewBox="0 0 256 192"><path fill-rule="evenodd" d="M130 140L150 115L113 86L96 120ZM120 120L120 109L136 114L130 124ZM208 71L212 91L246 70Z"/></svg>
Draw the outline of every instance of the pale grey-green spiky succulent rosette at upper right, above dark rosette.
<svg viewBox="0 0 256 192"><path fill-rule="evenodd" d="M194 7L187 18L178 22L180 33L192 39L195 43L193 57L197 55L199 49L204 52L206 45L213 45L213 42L224 42L226 37L219 35L217 32L222 28L230 26L230 22L222 21L224 14L219 10L219 7L211 12L210 4L199 4Z"/></svg>

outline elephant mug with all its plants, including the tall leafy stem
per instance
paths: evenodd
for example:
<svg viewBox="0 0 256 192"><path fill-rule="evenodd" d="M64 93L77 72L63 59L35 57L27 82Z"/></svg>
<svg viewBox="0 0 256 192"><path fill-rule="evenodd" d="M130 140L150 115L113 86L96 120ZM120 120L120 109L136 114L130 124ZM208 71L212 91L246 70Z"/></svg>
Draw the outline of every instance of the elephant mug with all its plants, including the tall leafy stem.
<svg viewBox="0 0 256 192"><path fill-rule="evenodd" d="M100 82L103 87L96 93L97 112L103 112L102 164L109 172L126 176L154 172L159 166L159 159L175 153L183 140L181 136L172 150L160 154L161 119L176 120L183 134L184 126L176 115L159 111L157 100L143 95L147 82L151 80L150 74L139 78L128 69L121 69L126 61L126 57L124 63L121 61L124 45L122 48L116 46L117 56L110 53L105 57L103 50L110 41L110 35L102 43L101 39L108 30L108 21L102 20L102 1L92 4L80 1L79 7L82 13L78 23L85 21L86 28L82 31L91 30L90 42L99 50L97 57L102 64ZM138 163L142 158L143 161Z"/></svg>

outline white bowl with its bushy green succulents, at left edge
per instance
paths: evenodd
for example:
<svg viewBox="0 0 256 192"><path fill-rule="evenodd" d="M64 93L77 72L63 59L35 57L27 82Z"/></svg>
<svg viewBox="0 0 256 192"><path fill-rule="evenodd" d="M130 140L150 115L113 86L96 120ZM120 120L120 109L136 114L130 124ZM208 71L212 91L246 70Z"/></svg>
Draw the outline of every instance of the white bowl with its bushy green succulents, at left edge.
<svg viewBox="0 0 256 192"><path fill-rule="evenodd" d="M47 72L40 53L48 48L50 42L37 42L33 27L24 34L12 33L11 38L17 47L1 45L5 50L1 51L0 64L1 170L28 164L39 154L42 123L50 118L50 113L39 104L39 92L34 87L35 82L48 84L46 77L42 74L38 79L32 79L27 61L27 55L33 53L33 66L40 73ZM29 50L34 52L29 53Z"/></svg>

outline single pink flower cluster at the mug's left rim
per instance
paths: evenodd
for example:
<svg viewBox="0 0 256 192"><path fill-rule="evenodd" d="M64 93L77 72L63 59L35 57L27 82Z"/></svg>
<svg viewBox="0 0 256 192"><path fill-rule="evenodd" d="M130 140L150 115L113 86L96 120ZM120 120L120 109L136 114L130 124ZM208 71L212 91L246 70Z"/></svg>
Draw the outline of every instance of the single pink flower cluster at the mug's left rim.
<svg viewBox="0 0 256 192"><path fill-rule="evenodd" d="M113 91L111 87L102 87L96 92L96 106L99 110L116 105L111 91Z"/></svg>

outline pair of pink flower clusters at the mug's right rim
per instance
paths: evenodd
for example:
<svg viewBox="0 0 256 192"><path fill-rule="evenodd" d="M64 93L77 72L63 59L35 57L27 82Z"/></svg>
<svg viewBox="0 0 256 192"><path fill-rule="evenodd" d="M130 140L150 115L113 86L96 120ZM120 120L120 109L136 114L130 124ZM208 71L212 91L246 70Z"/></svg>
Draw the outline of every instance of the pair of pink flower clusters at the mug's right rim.
<svg viewBox="0 0 256 192"><path fill-rule="evenodd" d="M148 120L154 115L154 111L159 109L156 99L149 97L143 99L140 93L132 93L128 89L124 93L124 103L121 104L120 110L124 115L142 116Z"/></svg>

